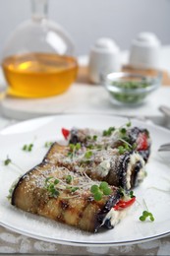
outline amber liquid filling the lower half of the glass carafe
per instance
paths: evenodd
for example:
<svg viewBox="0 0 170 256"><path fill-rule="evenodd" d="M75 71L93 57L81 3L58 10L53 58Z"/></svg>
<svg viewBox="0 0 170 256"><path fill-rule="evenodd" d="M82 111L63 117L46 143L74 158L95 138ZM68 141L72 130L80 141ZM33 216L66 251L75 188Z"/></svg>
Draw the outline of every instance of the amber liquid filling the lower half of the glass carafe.
<svg viewBox="0 0 170 256"><path fill-rule="evenodd" d="M76 58L48 53L7 57L2 63L12 96L42 97L64 93L76 80Z"/></svg>

